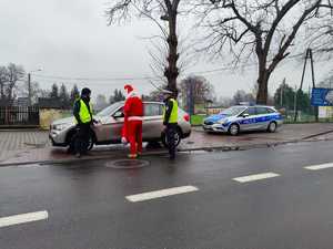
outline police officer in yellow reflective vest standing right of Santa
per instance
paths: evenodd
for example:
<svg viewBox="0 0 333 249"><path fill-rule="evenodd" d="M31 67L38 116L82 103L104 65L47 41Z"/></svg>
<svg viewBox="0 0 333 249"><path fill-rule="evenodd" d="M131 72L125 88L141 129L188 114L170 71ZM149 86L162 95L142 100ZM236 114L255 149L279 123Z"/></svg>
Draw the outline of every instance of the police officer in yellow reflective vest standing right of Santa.
<svg viewBox="0 0 333 249"><path fill-rule="evenodd" d="M175 157L175 134L178 128L178 102L173 97L173 92L162 91L164 95L163 125L165 126L167 144L170 159Z"/></svg>

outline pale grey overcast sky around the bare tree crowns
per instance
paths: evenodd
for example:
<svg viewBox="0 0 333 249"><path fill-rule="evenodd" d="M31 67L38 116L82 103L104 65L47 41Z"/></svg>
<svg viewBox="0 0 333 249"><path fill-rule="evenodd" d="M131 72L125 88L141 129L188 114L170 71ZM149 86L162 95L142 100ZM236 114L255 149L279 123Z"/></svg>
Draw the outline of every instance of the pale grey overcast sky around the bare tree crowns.
<svg viewBox="0 0 333 249"><path fill-rule="evenodd" d="M67 83L71 87L78 83L97 93L109 96L115 87L122 89L129 81L78 81L52 80L63 77L144 77L152 76L148 50L150 43L142 37L158 32L149 21L132 20L127 25L107 27L103 11L108 0L1 0L0 1L0 65L9 62L21 64L26 71L42 68L36 74L42 87L49 89L53 82ZM189 23L190 25L191 23ZM188 69L190 73L214 70L214 64L200 62ZM315 64L316 80L326 75L330 63ZM286 77L287 83L300 83L302 64L291 61L283 63L273 74L270 91ZM232 96L238 89L250 91L256 80L255 66L245 71L204 73L215 87L216 95ZM309 74L310 75L310 74ZM305 83L307 87L310 76ZM131 81L140 92L153 90L148 81Z"/></svg>

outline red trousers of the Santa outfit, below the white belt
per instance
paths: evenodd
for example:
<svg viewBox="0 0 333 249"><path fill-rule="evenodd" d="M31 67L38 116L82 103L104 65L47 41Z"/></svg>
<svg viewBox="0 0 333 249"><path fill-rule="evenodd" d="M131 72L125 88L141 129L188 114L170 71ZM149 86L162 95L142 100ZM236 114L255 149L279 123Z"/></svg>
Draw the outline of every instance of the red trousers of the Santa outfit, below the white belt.
<svg viewBox="0 0 333 249"><path fill-rule="evenodd" d="M142 153L142 121L128 121L128 139L131 154Z"/></svg>

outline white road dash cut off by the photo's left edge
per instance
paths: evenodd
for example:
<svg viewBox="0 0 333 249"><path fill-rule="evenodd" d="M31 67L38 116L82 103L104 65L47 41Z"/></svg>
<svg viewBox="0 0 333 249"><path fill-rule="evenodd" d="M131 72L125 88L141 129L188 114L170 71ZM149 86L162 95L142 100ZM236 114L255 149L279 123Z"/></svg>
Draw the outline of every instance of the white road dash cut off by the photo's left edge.
<svg viewBox="0 0 333 249"><path fill-rule="evenodd" d="M43 219L48 219L48 218L49 218L49 214L46 210L2 217L2 218L0 218L0 228L19 225L19 224L43 220Z"/></svg>

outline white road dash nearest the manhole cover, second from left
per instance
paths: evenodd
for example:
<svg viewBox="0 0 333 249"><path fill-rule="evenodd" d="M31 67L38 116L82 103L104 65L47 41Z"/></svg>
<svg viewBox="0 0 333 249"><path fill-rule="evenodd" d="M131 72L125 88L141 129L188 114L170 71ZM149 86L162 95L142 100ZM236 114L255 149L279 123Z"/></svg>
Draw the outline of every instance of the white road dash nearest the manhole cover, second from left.
<svg viewBox="0 0 333 249"><path fill-rule="evenodd" d="M144 201L144 200L155 199L155 198L161 198L167 196L198 191L198 190L199 188L194 186L182 186L182 187L174 187L174 188L165 188L157 191L148 191L138 195L131 195L131 196L127 196L125 198L131 203L138 203L138 201Z"/></svg>

